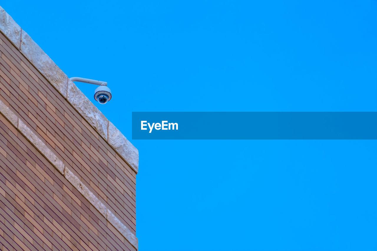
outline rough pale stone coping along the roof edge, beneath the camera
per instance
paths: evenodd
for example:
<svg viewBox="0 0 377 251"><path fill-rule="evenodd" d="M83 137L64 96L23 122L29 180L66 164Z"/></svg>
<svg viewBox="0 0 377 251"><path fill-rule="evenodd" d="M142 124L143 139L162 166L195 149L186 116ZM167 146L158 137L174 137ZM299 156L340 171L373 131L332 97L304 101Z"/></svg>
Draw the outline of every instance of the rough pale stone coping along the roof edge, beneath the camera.
<svg viewBox="0 0 377 251"><path fill-rule="evenodd" d="M0 6L0 31L138 173L139 151Z"/></svg>

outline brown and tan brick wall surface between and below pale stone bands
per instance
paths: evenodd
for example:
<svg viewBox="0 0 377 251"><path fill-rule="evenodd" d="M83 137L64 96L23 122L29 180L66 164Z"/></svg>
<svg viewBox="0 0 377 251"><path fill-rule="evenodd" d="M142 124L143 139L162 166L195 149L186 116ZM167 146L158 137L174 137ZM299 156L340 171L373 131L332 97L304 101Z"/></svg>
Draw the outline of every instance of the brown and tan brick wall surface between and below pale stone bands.
<svg viewBox="0 0 377 251"><path fill-rule="evenodd" d="M135 170L2 33L0 55L3 104L136 234ZM136 250L29 141L0 114L3 247Z"/></svg>

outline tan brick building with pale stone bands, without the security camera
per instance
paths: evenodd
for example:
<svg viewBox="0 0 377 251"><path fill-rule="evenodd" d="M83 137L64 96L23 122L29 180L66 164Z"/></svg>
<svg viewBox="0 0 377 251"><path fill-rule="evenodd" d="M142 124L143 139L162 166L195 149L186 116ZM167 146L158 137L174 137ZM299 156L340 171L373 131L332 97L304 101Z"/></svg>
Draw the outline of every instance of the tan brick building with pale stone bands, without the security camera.
<svg viewBox="0 0 377 251"><path fill-rule="evenodd" d="M0 7L0 249L137 250L138 150Z"/></svg>

